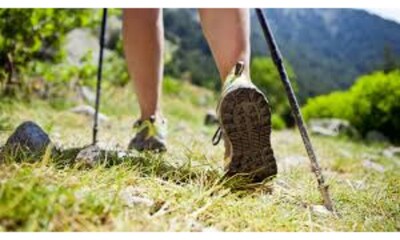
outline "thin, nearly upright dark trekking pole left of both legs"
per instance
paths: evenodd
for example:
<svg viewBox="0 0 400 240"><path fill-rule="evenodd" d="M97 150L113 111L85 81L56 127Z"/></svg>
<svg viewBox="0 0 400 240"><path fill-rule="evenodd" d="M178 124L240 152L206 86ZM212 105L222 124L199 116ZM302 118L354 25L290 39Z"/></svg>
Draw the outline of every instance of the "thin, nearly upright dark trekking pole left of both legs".
<svg viewBox="0 0 400 240"><path fill-rule="evenodd" d="M107 8L103 9L103 18L101 21L100 30L100 53L99 53L99 65L97 67L97 84L96 84L96 100L95 100L95 112L93 121L93 141L92 144L97 143L97 132L98 132L98 121L99 121L99 105L100 105L100 94L101 94L101 79L103 71L103 50L104 50L104 38L107 25Z"/></svg>

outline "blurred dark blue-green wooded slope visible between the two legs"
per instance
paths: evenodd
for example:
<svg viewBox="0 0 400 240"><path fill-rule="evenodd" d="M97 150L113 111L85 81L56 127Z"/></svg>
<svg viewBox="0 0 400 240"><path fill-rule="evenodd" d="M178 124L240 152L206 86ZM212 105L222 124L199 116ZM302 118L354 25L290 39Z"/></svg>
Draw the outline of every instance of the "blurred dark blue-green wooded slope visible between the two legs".
<svg viewBox="0 0 400 240"><path fill-rule="evenodd" d="M192 9L165 9L167 50L172 50L168 51L165 73L198 86L218 89L219 74L195 14Z"/></svg>

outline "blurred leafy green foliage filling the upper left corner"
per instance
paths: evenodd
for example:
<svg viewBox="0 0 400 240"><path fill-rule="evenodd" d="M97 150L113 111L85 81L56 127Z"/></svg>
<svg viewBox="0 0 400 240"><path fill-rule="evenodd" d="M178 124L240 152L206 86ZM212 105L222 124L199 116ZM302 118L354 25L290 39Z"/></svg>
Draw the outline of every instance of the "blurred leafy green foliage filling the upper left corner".
<svg viewBox="0 0 400 240"><path fill-rule="evenodd" d="M97 24L90 9L0 9L0 82L9 87L13 74L35 60L60 62L65 34ZM7 80L6 80L7 78ZM19 85L21 79L17 79Z"/></svg>

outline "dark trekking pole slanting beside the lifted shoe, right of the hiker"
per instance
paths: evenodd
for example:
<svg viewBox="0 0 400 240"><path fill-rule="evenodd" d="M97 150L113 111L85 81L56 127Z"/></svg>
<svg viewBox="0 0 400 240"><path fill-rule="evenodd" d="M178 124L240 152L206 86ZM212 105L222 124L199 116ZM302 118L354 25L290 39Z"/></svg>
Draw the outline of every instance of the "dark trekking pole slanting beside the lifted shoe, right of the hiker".
<svg viewBox="0 0 400 240"><path fill-rule="evenodd" d="M300 112L300 107L297 102L295 93L293 91L292 85L290 84L289 77L286 73L285 66L282 61L282 56L279 51L279 48L275 42L274 36L270 30L267 19L265 18L262 10L260 8L256 8L256 13L258 17L258 21L260 22L261 28L264 32L264 37L267 41L268 48L271 52L272 60L279 72L279 76L282 80L283 86L285 87L286 94L289 99L290 106L292 108L292 113L294 119L296 121L297 127L300 131L301 138L303 139L304 147L306 148L308 157L311 162L311 171L315 174L318 182L318 189L322 195L322 199L324 201L324 206L330 210L334 211L333 203L331 197L329 195L328 185L325 184L324 176L322 175L321 167L318 164L317 157L315 155L313 146L311 144L310 138L308 136L307 129L304 125L304 120Z"/></svg>

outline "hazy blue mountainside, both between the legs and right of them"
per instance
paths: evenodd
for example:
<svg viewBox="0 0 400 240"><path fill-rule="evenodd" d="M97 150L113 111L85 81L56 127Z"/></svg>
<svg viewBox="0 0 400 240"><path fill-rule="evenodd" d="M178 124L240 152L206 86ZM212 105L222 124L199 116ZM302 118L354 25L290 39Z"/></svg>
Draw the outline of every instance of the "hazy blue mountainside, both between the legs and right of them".
<svg viewBox="0 0 400 240"><path fill-rule="evenodd" d="M264 11L284 58L297 75L303 102L310 96L346 89L357 76L382 69L385 51L400 57L400 25L366 11ZM218 73L196 11L166 9L164 15L166 38L178 47L174 60L166 67L167 73L189 72L194 83L215 87ZM265 56L267 46L255 11L251 25L253 57Z"/></svg>

